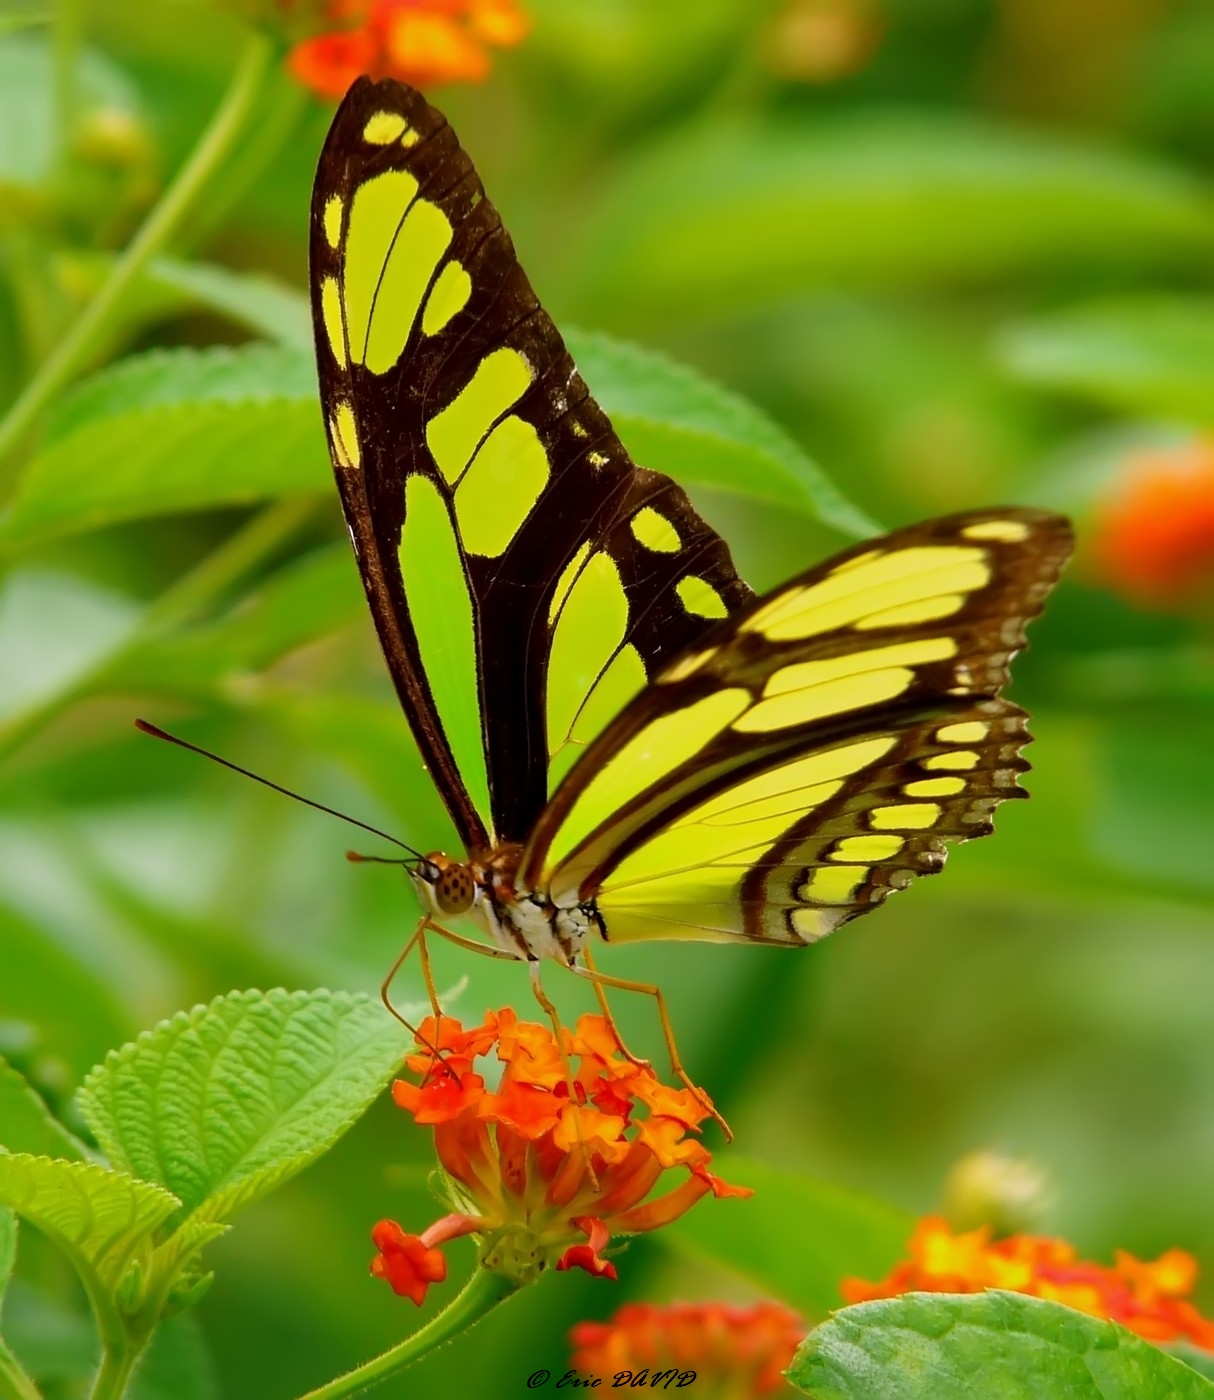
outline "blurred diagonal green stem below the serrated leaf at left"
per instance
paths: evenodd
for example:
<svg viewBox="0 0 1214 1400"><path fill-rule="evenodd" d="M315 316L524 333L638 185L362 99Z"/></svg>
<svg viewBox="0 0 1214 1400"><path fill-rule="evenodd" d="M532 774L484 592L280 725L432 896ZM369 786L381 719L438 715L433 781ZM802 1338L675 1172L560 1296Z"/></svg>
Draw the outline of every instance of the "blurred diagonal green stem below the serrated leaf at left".
<svg viewBox="0 0 1214 1400"><path fill-rule="evenodd" d="M214 553L167 588L113 651L99 657L84 675L62 690L18 710L0 724L0 759L28 743L77 700L102 686L106 672L132 652L189 622L207 603L228 592L311 519L315 504L312 496L286 497L267 505L260 515L228 536Z"/></svg>

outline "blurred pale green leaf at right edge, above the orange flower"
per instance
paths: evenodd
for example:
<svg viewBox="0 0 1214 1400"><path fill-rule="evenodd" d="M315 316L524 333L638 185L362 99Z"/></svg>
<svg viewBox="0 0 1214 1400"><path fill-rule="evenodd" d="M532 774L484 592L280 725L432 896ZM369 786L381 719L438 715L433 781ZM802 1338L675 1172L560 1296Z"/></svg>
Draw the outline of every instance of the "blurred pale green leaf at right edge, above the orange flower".
<svg viewBox="0 0 1214 1400"><path fill-rule="evenodd" d="M1110 407L1214 423L1214 301L1134 297L1010 328L1008 368L1031 384Z"/></svg>

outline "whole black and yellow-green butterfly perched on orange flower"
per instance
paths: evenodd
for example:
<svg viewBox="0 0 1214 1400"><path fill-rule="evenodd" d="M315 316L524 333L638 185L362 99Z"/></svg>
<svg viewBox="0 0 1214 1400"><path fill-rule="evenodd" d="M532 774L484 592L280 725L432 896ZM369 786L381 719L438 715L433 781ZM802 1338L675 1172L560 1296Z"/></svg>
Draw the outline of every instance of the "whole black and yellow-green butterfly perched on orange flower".
<svg viewBox="0 0 1214 1400"><path fill-rule="evenodd" d="M629 458L455 133L399 83L337 111L311 262L342 504L463 843L410 871L431 920L479 925L456 941L531 963L545 1005L543 958L623 984L591 935L809 944L1025 795L1000 690L1063 518L928 521L756 598Z"/></svg>

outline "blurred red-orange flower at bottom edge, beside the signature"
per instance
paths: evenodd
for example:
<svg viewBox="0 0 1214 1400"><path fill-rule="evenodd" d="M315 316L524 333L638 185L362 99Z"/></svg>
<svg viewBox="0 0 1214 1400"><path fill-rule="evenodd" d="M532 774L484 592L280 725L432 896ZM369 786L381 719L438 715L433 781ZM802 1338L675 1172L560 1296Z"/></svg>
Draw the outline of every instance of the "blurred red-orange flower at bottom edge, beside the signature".
<svg viewBox="0 0 1214 1400"><path fill-rule="evenodd" d="M805 1330L780 1303L625 1303L609 1322L580 1322L568 1340L578 1372L690 1371L697 1393L707 1385L711 1394L748 1400L795 1393L783 1371Z"/></svg>

